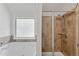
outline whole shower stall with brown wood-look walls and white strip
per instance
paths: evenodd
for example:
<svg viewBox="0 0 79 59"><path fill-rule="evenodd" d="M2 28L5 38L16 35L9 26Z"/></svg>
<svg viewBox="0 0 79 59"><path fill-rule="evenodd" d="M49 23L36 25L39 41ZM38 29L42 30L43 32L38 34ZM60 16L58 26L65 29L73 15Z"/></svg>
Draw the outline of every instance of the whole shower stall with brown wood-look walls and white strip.
<svg viewBox="0 0 79 59"><path fill-rule="evenodd" d="M75 56L76 12L68 11L51 13L54 13L54 15L43 15L42 17L43 55ZM61 15L61 13L63 14Z"/></svg>

